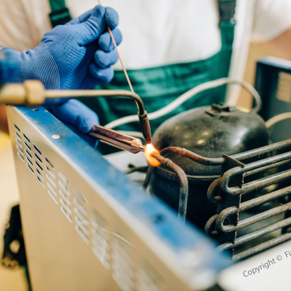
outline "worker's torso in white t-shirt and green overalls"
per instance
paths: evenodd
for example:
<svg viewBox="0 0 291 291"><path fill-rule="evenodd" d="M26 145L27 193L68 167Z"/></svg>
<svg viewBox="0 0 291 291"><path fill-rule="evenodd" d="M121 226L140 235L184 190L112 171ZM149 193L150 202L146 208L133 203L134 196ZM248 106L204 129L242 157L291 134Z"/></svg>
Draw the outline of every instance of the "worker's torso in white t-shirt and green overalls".
<svg viewBox="0 0 291 291"><path fill-rule="evenodd" d="M226 77L242 78L251 41L265 43L290 58L291 1L289 0L102 0L120 16L124 41L120 55L134 91L154 112L195 85ZM52 25L78 16L95 0L2 0L0 43L17 50L35 47ZM13 8L12 8L13 7ZM11 37L13 36L13 37ZM286 49L287 48L287 49ZM102 88L129 89L119 62L113 80ZM235 104L237 88L227 91ZM172 114L225 100L224 88L201 93ZM100 124L136 113L124 98L86 99ZM151 120L152 131L171 114ZM119 128L117 128L119 129ZM138 123L123 129L139 129Z"/></svg>

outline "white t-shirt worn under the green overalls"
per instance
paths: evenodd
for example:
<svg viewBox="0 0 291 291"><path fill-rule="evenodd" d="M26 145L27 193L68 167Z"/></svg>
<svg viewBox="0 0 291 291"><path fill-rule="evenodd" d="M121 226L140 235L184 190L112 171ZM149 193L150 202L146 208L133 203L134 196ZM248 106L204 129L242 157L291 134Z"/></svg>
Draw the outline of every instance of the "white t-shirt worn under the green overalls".
<svg viewBox="0 0 291 291"><path fill-rule="evenodd" d="M217 0L102 0L119 14L120 55L127 69L205 59L221 48ZM66 0L72 17L96 0ZM1 0L0 46L32 49L51 29L48 0ZM242 78L251 41L291 27L291 0L237 0L230 76ZM121 69L118 62L115 69Z"/></svg>

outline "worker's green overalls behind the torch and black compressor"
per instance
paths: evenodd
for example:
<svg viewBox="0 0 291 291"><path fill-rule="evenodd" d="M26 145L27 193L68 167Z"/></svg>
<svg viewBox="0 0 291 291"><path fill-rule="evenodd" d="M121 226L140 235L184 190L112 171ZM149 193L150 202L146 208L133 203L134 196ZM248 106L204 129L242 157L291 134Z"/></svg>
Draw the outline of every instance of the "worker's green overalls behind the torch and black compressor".
<svg viewBox="0 0 291 291"><path fill-rule="evenodd" d="M53 15L56 15L56 10L53 9L55 2L58 3L61 15L64 16L68 13L68 10L65 8L65 0L50 0ZM61 9L60 3L63 3ZM235 0L218 0L220 16L218 25L221 30L222 47L219 52L210 58L190 63L163 65L141 70L127 70L133 90L142 97L148 113L161 109L185 91L200 83L228 76L234 37L235 20L233 16L235 5ZM129 85L123 71L118 70L114 72L113 80L110 83L101 85L98 88L129 90ZM175 111L159 119L151 120L150 126L152 132L162 121L177 113L199 106L210 105L214 102L224 101L225 92L226 86L201 92L183 103ZM124 97L82 98L81 101L97 112L101 125L105 125L120 117L136 114L138 111L135 102ZM140 131L140 126L138 122L134 122L116 129Z"/></svg>

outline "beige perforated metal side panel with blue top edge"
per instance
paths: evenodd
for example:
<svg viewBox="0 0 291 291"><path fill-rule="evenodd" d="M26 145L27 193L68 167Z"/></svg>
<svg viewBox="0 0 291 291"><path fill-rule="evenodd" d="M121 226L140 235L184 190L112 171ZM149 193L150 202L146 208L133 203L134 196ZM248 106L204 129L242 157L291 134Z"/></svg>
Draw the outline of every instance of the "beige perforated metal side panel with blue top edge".
<svg viewBox="0 0 291 291"><path fill-rule="evenodd" d="M229 264L44 108L8 113L33 290L205 290Z"/></svg>

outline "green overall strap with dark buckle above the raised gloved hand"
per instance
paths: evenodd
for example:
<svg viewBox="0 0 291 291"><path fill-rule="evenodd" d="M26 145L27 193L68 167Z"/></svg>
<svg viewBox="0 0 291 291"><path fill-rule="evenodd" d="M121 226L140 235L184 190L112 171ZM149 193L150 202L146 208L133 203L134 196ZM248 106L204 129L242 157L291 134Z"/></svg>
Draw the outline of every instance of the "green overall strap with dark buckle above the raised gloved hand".
<svg viewBox="0 0 291 291"><path fill-rule="evenodd" d="M72 19L69 10L65 6L65 0L49 0L51 12L49 19L52 27L65 24Z"/></svg>

